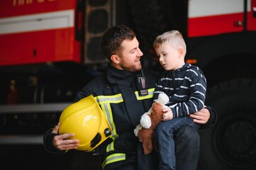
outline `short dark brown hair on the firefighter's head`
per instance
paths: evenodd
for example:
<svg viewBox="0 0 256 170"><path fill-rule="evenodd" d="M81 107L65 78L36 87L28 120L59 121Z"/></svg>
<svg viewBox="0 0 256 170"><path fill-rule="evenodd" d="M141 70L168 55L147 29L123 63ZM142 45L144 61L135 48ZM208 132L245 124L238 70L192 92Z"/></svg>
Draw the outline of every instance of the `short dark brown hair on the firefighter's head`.
<svg viewBox="0 0 256 170"><path fill-rule="evenodd" d="M108 28L101 40L101 50L105 57L111 61L111 55L120 54L122 52L121 43L123 40L133 40L135 33L127 26L113 26Z"/></svg>

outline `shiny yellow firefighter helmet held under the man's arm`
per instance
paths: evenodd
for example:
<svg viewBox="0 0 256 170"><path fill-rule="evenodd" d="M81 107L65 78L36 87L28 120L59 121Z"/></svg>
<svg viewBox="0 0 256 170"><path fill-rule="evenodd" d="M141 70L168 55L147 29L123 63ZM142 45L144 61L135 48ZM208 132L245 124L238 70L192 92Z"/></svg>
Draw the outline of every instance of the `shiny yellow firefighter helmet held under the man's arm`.
<svg viewBox="0 0 256 170"><path fill-rule="evenodd" d="M74 133L78 150L91 152L104 142L112 129L92 95L67 106L60 115L59 134Z"/></svg>

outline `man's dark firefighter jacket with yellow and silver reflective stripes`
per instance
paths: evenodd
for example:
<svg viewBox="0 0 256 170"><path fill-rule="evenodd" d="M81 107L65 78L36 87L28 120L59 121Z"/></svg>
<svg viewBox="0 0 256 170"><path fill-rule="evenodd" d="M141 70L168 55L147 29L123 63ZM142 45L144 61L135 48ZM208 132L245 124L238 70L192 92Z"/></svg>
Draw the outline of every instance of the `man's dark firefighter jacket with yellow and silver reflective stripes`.
<svg viewBox="0 0 256 170"><path fill-rule="evenodd" d="M133 130L140 123L140 116L152 106L158 75L156 72L144 72L148 94L141 96L137 81L140 72L119 70L109 65L106 73L89 82L77 95L75 101L92 94L113 130L111 141L99 147L99 153L104 154L103 169L115 169L136 161L138 138Z"/></svg>

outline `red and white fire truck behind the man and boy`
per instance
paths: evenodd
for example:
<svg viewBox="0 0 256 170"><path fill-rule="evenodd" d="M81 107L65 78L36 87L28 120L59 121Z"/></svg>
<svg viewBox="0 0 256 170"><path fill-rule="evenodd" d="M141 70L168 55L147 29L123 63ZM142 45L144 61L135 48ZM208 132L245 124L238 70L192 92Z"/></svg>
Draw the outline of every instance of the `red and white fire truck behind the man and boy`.
<svg viewBox="0 0 256 170"><path fill-rule="evenodd" d="M199 131L197 169L255 169L256 0L0 1L1 157L38 166L37 155L62 169L101 169L88 153L71 152L61 162L45 153L42 137L77 91L104 72L101 35L119 24L135 30L144 69L162 72L152 42L176 29L187 43L186 62L204 71L206 106L218 121Z"/></svg>

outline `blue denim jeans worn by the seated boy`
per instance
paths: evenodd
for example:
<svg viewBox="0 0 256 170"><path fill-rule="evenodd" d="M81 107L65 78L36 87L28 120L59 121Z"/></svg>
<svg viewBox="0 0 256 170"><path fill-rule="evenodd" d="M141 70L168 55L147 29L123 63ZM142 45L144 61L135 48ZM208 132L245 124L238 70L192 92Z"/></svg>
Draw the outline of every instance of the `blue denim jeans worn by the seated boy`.
<svg viewBox="0 0 256 170"><path fill-rule="evenodd" d="M157 125L155 137L159 152L160 170L176 169L177 160L175 157L174 132L182 126L190 126L195 130L199 129L199 125L194 123L193 119L189 116L163 121L160 125ZM176 143L176 145L179 145L179 143Z"/></svg>

